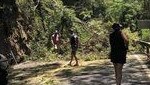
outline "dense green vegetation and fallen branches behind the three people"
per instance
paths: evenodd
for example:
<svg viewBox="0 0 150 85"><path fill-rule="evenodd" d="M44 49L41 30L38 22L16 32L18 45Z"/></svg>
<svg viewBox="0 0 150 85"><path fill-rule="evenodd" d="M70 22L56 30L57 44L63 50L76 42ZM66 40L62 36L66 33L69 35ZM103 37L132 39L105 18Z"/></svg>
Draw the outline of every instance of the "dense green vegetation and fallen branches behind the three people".
<svg viewBox="0 0 150 85"><path fill-rule="evenodd" d="M31 57L28 58L33 60L51 60L52 57L55 57L55 54L52 54L53 47L50 41L55 29L58 29L61 33L61 48L64 55L67 55L70 51L70 45L66 42L68 42L68 31L72 29L79 36L80 54L92 54L92 57L94 54L95 56L97 54L106 56L109 53L108 34L111 31L112 23L121 23L130 37L130 41L132 41L140 38L136 26L137 19L150 18L149 11L147 11L148 0L13 1L15 7L17 7L17 11L15 11L17 13L15 18L17 26L13 27L16 30L22 29L21 33L18 32L15 35L26 36L24 37L25 41L24 38L21 38L22 41L20 42L27 44L23 44L26 48L23 51L27 55L31 54ZM144 1L147 3L144 3ZM8 0L4 2L8 2ZM13 27L11 28L13 29ZM12 32L15 31L12 30ZM143 39L149 41L150 31L142 32L144 34ZM15 37L12 39L15 39ZM19 41L19 39L17 40ZM138 50L132 45L130 46L130 50Z"/></svg>

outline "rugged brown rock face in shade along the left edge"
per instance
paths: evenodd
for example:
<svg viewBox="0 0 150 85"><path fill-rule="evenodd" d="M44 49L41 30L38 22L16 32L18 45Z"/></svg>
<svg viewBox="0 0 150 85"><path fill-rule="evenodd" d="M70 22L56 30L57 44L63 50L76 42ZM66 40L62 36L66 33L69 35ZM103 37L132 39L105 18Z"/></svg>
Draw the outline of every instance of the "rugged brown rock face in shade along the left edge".
<svg viewBox="0 0 150 85"><path fill-rule="evenodd" d="M16 0L0 0L0 54L8 58L13 54L17 61L29 55L29 23L19 11Z"/></svg>

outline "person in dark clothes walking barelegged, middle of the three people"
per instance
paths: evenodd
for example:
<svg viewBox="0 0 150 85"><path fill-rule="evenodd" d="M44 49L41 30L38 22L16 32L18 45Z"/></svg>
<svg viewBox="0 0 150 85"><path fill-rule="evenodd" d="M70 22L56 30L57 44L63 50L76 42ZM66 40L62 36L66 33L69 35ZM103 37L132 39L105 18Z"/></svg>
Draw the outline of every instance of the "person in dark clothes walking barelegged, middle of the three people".
<svg viewBox="0 0 150 85"><path fill-rule="evenodd" d="M78 49L78 36L71 30L70 31L70 45L71 45L71 60L69 62L69 65L72 66L72 61L73 61L73 58L75 58L75 61L76 61L76 64L74 66L79 66L79 63L78 63L78 59L76 57L76 51Z"/></svg>

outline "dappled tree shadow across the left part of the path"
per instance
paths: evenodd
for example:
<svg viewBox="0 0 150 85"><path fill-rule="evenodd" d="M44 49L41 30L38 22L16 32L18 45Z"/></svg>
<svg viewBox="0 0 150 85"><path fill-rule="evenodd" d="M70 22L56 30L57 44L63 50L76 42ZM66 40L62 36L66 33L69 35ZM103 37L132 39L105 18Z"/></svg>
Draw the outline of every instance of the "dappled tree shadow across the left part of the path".
<svg viewBox="0 0 150 85"><path fill-rule="evenodd" d="M59 68L60 65L60 63L49 63L29 68L21 68L20 66L15 69L12 68L9 74L9 85L26 85L26 79L42 75L48 70Z"/></svg>

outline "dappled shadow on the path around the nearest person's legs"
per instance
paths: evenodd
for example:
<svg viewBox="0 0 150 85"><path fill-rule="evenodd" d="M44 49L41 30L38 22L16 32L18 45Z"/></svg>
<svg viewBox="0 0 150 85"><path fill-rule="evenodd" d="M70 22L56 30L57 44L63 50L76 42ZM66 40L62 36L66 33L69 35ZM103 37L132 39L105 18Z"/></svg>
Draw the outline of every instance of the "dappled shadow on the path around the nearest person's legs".
<svg viewBox="0 0 150 85"><path fill-rule="evenodd" d="M127 60L123 68L122 85L150 85L150 78L142 64L136 58ZM81 70L74 72L73 69L65 69L57 73L62 78L64 85L115 85L113 65L106 62L103 64L89 64Z"/></svg>

